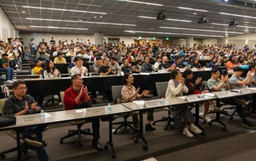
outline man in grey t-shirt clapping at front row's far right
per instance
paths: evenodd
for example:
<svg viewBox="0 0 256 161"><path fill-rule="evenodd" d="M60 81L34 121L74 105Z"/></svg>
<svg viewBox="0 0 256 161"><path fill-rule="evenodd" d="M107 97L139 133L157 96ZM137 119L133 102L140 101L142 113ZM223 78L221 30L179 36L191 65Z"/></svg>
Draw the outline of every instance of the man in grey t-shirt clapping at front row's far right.
<svg viewBox="0 0 256 161"><path fill-rule="evenodd" d="M240 77L243 73L243 69L239 66L236 66L234 69L233 75L229 78L229 86L230 89L241 89L245 88L246 85L251 84L252 78L254 76L254 72L251 73L251 71L247 72L246 79L243 79Z"/></svg>

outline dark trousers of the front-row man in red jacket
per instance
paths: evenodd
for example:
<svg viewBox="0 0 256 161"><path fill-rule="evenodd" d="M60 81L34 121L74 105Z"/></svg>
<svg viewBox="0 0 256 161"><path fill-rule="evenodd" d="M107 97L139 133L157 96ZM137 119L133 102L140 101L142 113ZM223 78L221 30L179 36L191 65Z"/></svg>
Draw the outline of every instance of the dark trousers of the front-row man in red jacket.
<svg viewBox="0 0 256 161"><path fill-rule="evenodd" d="M75 108L87 108L91 107L91 104L87 101L82 101L81 104L77 105ZM88 118L92 123L93 140L97 141L100 139L100 118Z"/></svg>

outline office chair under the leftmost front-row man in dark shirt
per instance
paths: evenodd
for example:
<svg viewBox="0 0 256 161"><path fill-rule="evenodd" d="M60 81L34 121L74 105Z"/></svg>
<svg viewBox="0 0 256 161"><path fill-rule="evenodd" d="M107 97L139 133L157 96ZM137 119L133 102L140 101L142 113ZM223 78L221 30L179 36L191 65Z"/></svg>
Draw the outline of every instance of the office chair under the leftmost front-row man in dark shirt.
<svg viewBox="0 0 256 161"><path fill-rule="evenodd" d="M5 103L6 100L7 100L7 98L0 99L0 112L2 113L2 115L4 114L3 107L4 107L4 103ZM49 127L47 126L42 132L45 132L46 130L48 130L48 128L49 128ZM17 134L16 134L15 130L9 130L9 131L7 132L7 134L8 134L10 137L14 138L15 140L17 139ZM20 139L20 140L23 140L23 143L20 143L20 153L21 153L21 154L23 154L23 153L24 153L24 154L27 154L28 149L34 150L34 149L32 148L32 145L29 145L29 144L26 142L26 140L25 140L25 138L24 138L24 136L23 136L22 134L20 134L19 139ZM47 146L47 143L46 143L45 141L43 141L43 144L44 144L44 146ZM4 159L4 158L6 157L6 154L8 154L8 153L10 153L10 152L15 152L15 151L17 151L17 150L18 150L18 147L16 146L16 147L11 148L11 149L9 149L9 150L6 150L6 151L4 151L4 152L0 152L0 158L1 158L1 159Z"/></svg>

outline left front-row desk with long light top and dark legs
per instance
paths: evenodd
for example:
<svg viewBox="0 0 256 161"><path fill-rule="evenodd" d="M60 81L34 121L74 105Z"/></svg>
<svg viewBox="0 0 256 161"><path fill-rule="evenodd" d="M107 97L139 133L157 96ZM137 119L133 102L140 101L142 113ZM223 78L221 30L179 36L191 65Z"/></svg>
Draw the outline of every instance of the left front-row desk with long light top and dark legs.
<svg viewBox="0 0 256 161"><path fill-rule="evenodd" d="M19 130L24 129L26 127L31 127L31 126L37 126L37 125L51 125L51 124L58 124L58 123L64 123L64 122L70 122L70 121L79 121L83 120L86 118L93 118L93 117L101 117L101 116L106 116L109 121L109 141L107 144L104 146L105 149L108 149L110 146L112 150L112 157L116 157L116 151L114 149L114 145L112 142L112 120L114 115L119 115L119 114L125 114L132 112L131 109L122 106L121 104L118 105L111 105L112 111L108 112L107 111L107 106L102 106L105 107L105 114L102 115L96 115L96 116L86 116L84 112L79 112L76 113L76 109L73 110L67 110L67 111L57 111L57 112L49 112L48 114L51 115L51 117L46 117L45 120L41 121L41 123L35 123L35 124L27 124L27 125L10 125L7 127L2 127L0 128L0 131L6 131L6 130L16 130L17 132L17 147L18 147L18 157L17 159L21 161L21 153L20 153L20 133ZM91 109L95 109L97 107L90 107Z"/></svg>

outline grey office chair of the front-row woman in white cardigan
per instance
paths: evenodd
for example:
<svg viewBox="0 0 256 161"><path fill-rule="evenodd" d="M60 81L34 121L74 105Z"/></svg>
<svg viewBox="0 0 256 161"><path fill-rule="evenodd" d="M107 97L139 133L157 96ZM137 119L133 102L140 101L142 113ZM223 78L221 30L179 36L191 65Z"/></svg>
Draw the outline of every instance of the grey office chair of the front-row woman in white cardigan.
<svg viewBox="0 0 256 161"><path fill-rule="evenodd" d="M155 88L156 88L158 98L165 97L165 92L166 92L167 87L168 87L168 81L155 83ZM154 121L153 125L155 125L155 123L157 123L157 122L167 121L167 124L164 129L168 130L168 127L171 125L171 121L174 122L174 118L171 117L171 112L170 112L169 107L164 107L164 109L166 111L168 111L168 116L167 117L163 116L160 120Z"/></svg>

